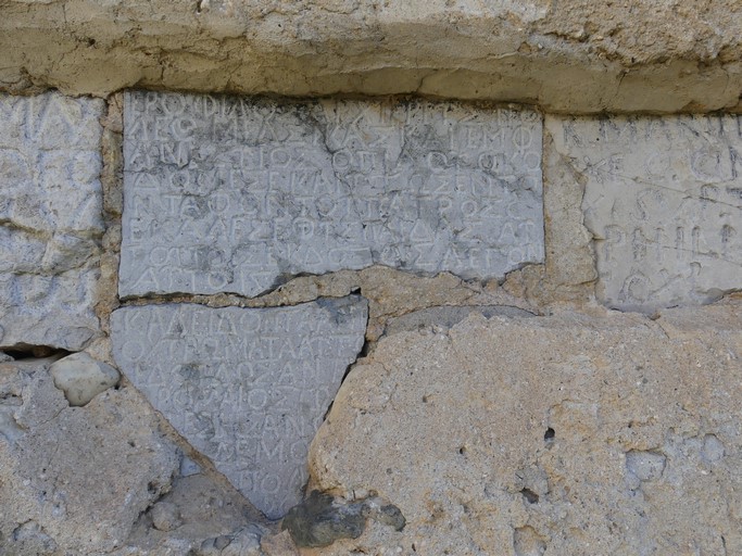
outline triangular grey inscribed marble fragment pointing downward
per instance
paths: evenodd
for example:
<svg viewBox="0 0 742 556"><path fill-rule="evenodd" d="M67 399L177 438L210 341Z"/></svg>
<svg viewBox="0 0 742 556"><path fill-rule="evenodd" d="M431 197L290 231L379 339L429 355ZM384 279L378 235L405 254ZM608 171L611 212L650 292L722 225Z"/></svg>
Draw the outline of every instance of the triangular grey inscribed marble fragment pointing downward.
<svg viewBox="0 0 742 556"><path fill-rule="evenodd" d="M306 454L364 342L360 296L293 307L131 306L114 358L193 447L269 518L301 501Z"/></svg>

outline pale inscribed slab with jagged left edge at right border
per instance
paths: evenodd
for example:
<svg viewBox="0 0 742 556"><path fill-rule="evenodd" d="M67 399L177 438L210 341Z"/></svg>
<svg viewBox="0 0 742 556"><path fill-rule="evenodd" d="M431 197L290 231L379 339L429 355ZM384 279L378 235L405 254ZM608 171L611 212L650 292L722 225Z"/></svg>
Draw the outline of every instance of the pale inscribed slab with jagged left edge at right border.
<svg viewBox="0 0 742 556"><path fill-rule="evenodd" d="M742 288L740 116L549 117L546 127L584 178L607 305L706 303Z"/></svg>

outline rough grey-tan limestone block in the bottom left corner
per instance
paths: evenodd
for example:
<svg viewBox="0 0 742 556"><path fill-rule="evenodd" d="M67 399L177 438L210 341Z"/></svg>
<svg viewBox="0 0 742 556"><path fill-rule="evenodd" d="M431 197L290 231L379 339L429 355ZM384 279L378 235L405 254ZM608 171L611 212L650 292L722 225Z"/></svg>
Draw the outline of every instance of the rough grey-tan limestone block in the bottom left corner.
<svg viewBox="0 0 742 556"><path fill-rule="evenodd" d="M130 388L70 407L51 363L0 363L0 554L106 553L169 488L176 448Z"/></svg>

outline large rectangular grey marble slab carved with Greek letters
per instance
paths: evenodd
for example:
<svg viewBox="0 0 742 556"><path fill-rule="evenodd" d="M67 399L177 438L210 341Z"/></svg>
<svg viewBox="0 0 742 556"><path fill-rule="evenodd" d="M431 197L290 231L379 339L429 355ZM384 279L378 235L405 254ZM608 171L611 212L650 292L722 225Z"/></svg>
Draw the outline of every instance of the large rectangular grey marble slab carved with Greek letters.
<svg viewBox="0 0 742 556"><path fill-rule="evenodd" d="M541 117L410 101L130 92L120 293L256 295L373 264L543 260Z"/></svg>

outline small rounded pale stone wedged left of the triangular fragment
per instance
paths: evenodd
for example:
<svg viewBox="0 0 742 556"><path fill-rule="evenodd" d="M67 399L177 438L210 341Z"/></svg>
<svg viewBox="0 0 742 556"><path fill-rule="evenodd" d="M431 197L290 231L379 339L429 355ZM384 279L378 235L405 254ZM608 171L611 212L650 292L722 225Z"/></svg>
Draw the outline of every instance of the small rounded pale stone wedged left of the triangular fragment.
<svg viewBox="0 0 742 556"><path fill-rule="evenodd" d="M70 405L86 405L96 395L118 382L118 371L87 353L74 353L50 367L54 386L64 392Z"/></svg>

